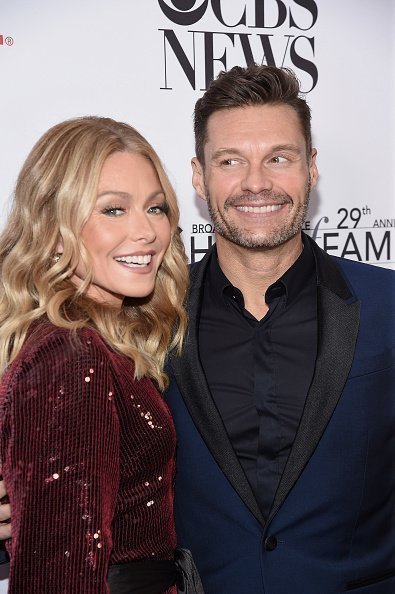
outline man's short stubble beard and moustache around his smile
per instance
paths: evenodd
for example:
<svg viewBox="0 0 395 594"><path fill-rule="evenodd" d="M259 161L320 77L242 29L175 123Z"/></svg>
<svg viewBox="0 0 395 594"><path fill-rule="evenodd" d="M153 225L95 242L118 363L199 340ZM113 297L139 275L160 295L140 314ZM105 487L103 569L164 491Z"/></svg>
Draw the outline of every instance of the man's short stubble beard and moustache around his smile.
<svg viewBox="0 0 395 594"><path fill-rule="evenodd" d="M207 187L206 200L210 218L214 226L214 230L216 233L218 233L218 235L240 247L255 249L274 248L284 244L289 239L295 237L295 235L298 235L301 232L303 223L306 220L307 212L309 209L310 190L311 181L309 179L306 187L305 200L303 201L303 203L299 204L296 212L294 212L292 216L292 219L290 221L286 221L282 226L276 229L267 232L264 231L261 233L245 231L238 227L236 224L232 223L231 221L225 220L222 213L220 213L218 209L212 206L210 194L208 192ZM252 193L245 193L242 196L251 196L251 202L253 202L254 198L256 200L256 198L259 196L265 196L265 200L268 200L270 197L274 197L276 204L279 203L279 201L283 202L284 204L289 204L290 206L293 204L292 198L287 194L262 192L261 194L256 195ZM226 213L229 210L229 207L238 199L240 199L240 196L228 198L224 204L224 213Z"/></svg>

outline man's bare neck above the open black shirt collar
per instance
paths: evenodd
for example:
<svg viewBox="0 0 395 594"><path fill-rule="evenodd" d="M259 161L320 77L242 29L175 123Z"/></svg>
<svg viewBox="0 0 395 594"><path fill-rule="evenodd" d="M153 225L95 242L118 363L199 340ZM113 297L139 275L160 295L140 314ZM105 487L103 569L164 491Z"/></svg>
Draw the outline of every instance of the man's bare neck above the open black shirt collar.
<svg viewBox="0 0 395 594"><path fill-rule="evenodd" d="M256 319L268 308L265 293L298 259L303 243L297 235L276 248L244 248L216 237L218 263L227 279L243 293L244 304Z"/></svg>

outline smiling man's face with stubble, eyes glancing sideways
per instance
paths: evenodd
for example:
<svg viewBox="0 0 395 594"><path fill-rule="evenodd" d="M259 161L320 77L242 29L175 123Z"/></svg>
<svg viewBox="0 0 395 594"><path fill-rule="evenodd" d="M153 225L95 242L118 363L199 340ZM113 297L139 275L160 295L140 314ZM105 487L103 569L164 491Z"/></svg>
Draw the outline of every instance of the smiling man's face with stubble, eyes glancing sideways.
<svg viewBox="0 0 395 594"><path fill-rule="evenodd" d="M214 112L204 168L196 158L192 167L217 242L269 248L300 233L318 175L315 156L315 150L307 154L297 114L287 105Z"/></svg>

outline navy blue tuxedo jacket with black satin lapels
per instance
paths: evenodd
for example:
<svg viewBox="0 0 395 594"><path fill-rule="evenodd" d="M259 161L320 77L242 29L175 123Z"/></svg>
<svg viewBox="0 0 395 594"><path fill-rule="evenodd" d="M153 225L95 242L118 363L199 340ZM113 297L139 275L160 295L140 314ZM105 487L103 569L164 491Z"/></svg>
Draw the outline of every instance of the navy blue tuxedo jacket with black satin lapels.
<svg viewBox="0 0 395 594"><path fill-rule="evenodd" d="M305 241L312 241L305 237ZM191 268L189 331L171 358L176 525L206 594L395 593L395 272L314 242L318 354L272 509L263 517L198 350L209 253Z"/></svg>

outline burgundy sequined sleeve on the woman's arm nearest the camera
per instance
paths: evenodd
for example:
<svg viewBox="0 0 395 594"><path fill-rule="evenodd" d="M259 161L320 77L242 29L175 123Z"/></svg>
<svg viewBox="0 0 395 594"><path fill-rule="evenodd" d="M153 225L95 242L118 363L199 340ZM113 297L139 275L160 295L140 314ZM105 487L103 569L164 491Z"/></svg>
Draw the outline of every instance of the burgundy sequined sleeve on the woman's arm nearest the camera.
<svg viewBox="0 0 395 594"><path fill-rule="evenodd" d="M106 355L93 332L76 346L58 331L3 378L10 594L108 591L119 423Z"/></svg>

